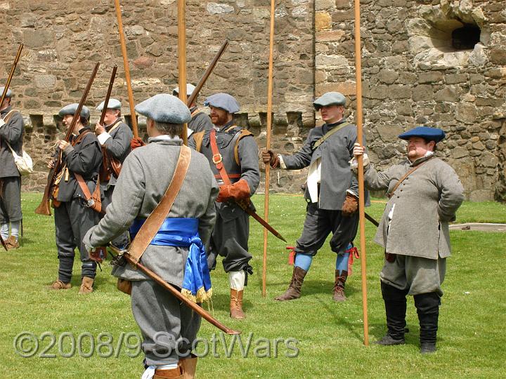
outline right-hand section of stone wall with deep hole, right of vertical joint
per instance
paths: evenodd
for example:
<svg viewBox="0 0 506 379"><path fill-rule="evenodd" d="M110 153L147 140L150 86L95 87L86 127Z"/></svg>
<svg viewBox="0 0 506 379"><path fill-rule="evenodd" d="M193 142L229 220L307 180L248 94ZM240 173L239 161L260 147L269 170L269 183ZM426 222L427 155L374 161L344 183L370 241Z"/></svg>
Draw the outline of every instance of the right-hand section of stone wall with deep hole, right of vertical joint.
<svg viewBox="0 0 506 379"><path fill-rule="evenodd" d="M354 105L353 1L316 1L316 95L335 89ZM380 168L404 157L396 138L442 128L443 157L467 199L506 199L506 11L502 1L362 0L364 126ZM468 50L452 32L479 27Z"/></svg>

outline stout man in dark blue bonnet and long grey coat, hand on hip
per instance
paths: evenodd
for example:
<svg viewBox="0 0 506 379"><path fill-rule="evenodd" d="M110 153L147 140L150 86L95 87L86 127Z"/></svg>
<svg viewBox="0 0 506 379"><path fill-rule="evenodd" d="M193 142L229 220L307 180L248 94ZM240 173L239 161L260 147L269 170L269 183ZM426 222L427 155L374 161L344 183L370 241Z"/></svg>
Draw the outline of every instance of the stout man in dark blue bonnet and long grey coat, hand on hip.
<svg viewBox="0 0 506 379"><path fill-rule="evenodd" d="M380 281L387 314L387 335L377 344L404 343L406 295L413 295L424 354L436 351L441 284L450 256L448 222L455 221L464 189L453 168L434 157L443 131L418 126L398 137L408 141L405 161L378 172L356 146L351 167L356 171L356 157L363 155L365 187L386 189L389 197L375 237L385 252Z"/></svg>

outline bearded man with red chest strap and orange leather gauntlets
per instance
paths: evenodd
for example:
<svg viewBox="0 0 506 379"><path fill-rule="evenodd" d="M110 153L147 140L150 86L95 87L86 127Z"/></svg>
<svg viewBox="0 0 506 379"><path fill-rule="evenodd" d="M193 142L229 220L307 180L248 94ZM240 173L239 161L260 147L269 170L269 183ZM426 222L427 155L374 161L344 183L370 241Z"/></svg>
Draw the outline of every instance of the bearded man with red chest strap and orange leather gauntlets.
<svg viewBox="0 0 506 379"><path fill-rule="evenodd" d="M220 191L216 199L216 225L211 237L209 267L223 257L223 269L231 287L230 315L244 319L242 298L252 255L248 251L249 215L238 201L252 206L252 197L260 182L259 149L253 134L235 124L239 103L228 93L215 93L204 102L211 109L213 128L193 135L189 145L209 161Z"/></svg>

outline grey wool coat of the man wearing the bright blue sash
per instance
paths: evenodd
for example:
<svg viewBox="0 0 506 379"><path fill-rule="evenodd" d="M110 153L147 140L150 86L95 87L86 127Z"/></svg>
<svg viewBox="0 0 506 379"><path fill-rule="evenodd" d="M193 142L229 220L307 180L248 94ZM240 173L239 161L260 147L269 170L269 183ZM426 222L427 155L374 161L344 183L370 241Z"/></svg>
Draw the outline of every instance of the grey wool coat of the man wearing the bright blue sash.
<svg viewBox="0 0 506 379"><path fill-rule="evenodd" d="M148 218L169 187L181 142L166 136L150 138L148 145L138 147L126 157L112 203L100 223L84 237L85 244L105 246L126 231L136 218ZM214 199L218 192L207 159L192 151L188 173L167 217L198 218L200 238L208 246L216 218ZM149 245L141 262L165 281L181 287L187 257L188 248ZM130 265L115 267L112 274L129 280L148 279Z"/></svg>

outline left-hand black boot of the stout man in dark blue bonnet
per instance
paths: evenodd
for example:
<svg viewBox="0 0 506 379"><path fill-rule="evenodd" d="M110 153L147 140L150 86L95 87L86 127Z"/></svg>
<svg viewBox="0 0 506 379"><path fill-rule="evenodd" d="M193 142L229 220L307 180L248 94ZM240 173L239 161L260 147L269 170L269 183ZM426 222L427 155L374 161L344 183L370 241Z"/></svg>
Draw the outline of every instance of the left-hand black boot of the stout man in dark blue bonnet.
<svg viewBox="0 0 506 379"><path fill-rule="evenodd" d="M387 335L377 345L402 345L406 328L407 290L400 290L381 282L382 296L387 313Z"/></svg>

